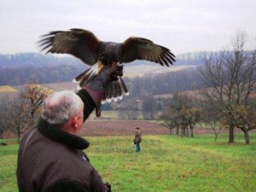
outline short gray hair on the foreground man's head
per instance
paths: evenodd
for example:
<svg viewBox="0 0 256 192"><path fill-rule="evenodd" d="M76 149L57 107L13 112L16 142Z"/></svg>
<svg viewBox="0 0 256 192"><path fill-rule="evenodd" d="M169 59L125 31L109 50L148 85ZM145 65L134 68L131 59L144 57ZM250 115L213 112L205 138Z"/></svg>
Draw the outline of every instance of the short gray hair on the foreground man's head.
<svg viewBox="0 0 256 192"><path fill-rule="evenodd" d="M43 104L42 118L51 125L63 125L73 114L79 114L81 98L71 90L62 90L48 96Z"/></svg>

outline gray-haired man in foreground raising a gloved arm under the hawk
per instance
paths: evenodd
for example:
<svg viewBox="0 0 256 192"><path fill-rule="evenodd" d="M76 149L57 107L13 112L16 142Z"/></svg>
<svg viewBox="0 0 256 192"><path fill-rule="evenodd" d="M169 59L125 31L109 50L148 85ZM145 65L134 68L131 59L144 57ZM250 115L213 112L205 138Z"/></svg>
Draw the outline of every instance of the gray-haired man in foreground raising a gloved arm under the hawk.
<svg viewBox="0 0 256 192"><path fill-rule="evenodd" d="M77 94L55 92L44 101L38 126L20 143L17 180L20 192L108 192L83 150L89 143L78 136L83 122L100 102L104 90L122 67L105 68Z"/></svg>

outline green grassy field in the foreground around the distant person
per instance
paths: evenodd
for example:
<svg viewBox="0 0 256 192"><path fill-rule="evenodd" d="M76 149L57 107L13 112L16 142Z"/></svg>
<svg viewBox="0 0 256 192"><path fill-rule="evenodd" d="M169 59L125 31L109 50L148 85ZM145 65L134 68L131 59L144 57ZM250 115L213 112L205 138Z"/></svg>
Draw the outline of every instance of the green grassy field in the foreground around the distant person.
<svg viewBox="0 0 256 192"><path fill-rule="evenodd" d="M181 138L144 136L134 152L132 137L88 137L90 162L112 183L114 192L256 191L256 134L250 145L242 136L228 144L227 135ZM11 142L11 141L4 141ZM17 191L18 145L0 147L0 192Z"/></svg>

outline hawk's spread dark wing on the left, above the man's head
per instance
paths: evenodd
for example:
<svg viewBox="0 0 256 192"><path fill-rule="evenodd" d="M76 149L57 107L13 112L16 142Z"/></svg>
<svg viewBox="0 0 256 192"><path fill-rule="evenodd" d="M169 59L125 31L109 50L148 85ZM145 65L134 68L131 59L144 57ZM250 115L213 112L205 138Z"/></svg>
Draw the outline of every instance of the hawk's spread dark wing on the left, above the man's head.
<svg viewBox="0 0 256 192"><path fill-rule="evenodd" d="M42 50L47 49L47 53L74 55L91 66L98 61L101 41L90 31L71 29L65 32L49 32L42 37L39 44Z"/></svg>

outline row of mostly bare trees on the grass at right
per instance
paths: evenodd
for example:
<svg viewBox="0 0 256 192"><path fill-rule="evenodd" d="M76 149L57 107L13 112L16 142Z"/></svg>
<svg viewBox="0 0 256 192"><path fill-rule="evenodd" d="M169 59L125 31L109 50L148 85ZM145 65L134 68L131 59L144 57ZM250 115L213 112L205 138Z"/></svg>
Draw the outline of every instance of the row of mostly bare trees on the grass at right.
<svg viewBox="0 0 256 192"><path fill-rule="evenodd" d="M246 50L246 43L246 32L239 31L231 50L205 56L205 65L199 71L207 88L196 99L174 95L170 106L160 115L170 131L180 126L191 130L201 121L211 125L215 140L219 133L216 127L220 125L228 126L229 143L235 142L235 128L241 129L245 142L250 143L248 132L256 129L256 49Z"/></svg>

